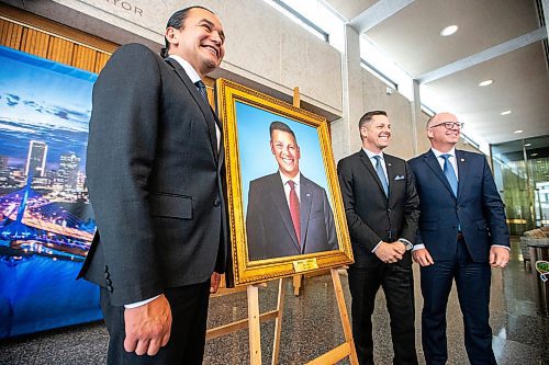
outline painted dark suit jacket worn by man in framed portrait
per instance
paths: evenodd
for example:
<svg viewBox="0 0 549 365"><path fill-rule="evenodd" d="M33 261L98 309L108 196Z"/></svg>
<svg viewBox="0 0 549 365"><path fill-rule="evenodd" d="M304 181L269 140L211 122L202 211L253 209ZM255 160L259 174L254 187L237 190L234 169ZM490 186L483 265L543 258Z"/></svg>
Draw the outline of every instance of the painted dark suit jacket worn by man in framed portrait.
<svg viewBox="0 0 549 365"><path fill-rule="evenodd" d="M337 250L334 215L326 191L301 174L301 242L293 228L280 173L249 183L246 233L249 260Z"/></svg>

